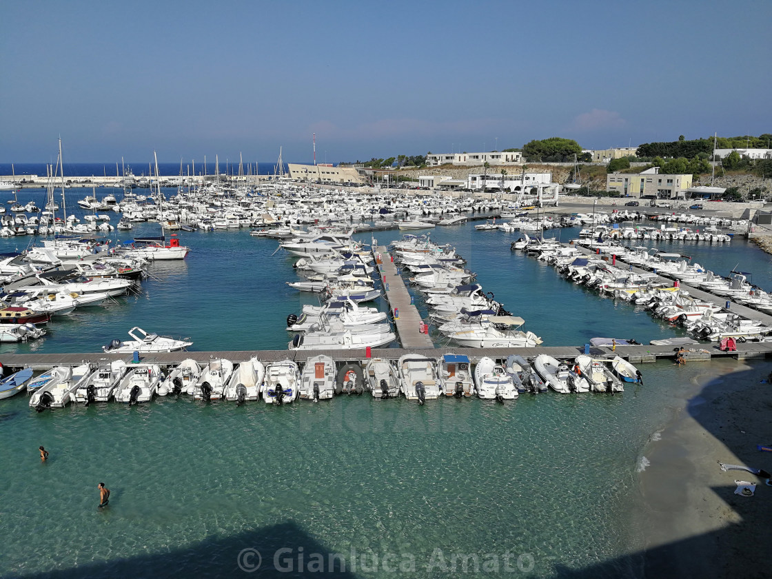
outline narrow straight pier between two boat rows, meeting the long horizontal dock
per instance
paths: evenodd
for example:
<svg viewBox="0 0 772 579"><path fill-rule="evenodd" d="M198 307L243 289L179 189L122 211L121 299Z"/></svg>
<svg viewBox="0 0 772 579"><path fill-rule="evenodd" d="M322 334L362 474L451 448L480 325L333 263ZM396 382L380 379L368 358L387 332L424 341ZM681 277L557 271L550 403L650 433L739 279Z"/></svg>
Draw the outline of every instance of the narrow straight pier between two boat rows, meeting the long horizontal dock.
<svg viewBox="0 0 772 579"><path fill-rule="evenodd" d="M433 348L434 344L428 334L420 331L423 324L421 314L411 303L408 288L394 266L391 254L383 245L376 249L373 244L373 251L391 314L394 315L394 310L398 310L399 316L394 317L394 325L397 327L399 343L404 348Z"/></svg>

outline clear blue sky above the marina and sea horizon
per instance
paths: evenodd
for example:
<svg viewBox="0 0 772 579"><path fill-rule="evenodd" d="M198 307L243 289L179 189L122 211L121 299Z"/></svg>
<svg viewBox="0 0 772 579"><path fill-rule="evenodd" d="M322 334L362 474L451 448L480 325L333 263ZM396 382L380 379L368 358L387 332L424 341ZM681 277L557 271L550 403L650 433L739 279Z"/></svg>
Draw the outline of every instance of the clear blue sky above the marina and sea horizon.
<svg viewBox="0 0 772 579"><path fill-rule="evenodd" d="M0 161L772 131L772 2L0 2Z"/></svg>

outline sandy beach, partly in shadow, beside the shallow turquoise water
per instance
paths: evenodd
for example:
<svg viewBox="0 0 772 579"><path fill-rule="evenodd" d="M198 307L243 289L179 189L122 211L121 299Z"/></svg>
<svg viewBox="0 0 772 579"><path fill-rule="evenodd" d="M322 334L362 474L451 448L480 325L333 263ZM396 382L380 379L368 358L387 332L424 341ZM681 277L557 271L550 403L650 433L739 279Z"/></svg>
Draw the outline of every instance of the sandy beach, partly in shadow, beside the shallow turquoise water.
<svg viewBox="0 0 772 579"><path fill-rule="evenodd" d="M645 577L769 577L772 487L718 462L772 471L772 364L706 364L694 379L699 394L652 436L639 473L642 508L633 528L642 535ZM738 496L735 479L756 482Z"/></svg>

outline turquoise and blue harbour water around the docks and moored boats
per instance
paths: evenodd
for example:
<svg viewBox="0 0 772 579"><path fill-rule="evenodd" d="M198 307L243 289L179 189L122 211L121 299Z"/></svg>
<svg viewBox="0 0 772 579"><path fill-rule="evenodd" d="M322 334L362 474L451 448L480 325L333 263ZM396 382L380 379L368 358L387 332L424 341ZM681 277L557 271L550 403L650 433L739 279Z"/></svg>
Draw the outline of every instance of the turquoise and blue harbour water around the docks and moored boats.
<svg viewBox="0 0 772 579"><path fill-rule="evenodd" d="M376 235L384 243L401 234ZM432 237L456 245L479 283L547 345L675 334L510 252L507 235L464 225ZM17 349L97 350L133 325L190 336L195 350L286 347L286 314L311 299L284 283L296 273L292 259L272 255L277 242L244 229L181 239L191 255L154 267L141 296L52 323L31 346L3 344L0 361ZM29 241L0 243L23 249ZM744 242L690 249L742 256L759 270L767 259ZM624 556L638 550L628 511L642 449L694 391L691 378L713 364L733 363L647 364L645 384L621 395L540 394L506 405L365 396L235 408L165 398L38 415L20 395L0 401L0 574L240 575L239 561L256 563L245 551L254 549L261 570L279 577L313 571L315 553L325 565L341 554L347 571L335 575L344 577L393 576L400 566L401 574L448 577L464 560L472 571L477 560L486 577L581 575L611 559L609 576L635 576L638 557ZM39 445L51 452L45 464ZM103 512L100 481L112 491ZM294 571L280 572L288 559Z"/></svg>

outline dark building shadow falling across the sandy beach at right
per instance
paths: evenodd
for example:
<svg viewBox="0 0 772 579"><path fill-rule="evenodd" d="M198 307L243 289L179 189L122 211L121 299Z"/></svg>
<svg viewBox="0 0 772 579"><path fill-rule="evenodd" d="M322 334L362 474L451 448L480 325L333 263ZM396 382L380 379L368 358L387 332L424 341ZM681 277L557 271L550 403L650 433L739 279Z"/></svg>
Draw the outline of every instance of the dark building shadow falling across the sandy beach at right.
<svg viewBox="0 0 772 579"><path fill-rule="evenodd" d="M766 368L766 370L764 370ZM722 394L726 388L724 381L748 381L749 388L772 388L768 381L760 383L760 371L765 376L772 369L770 364L762 363L754 365L750 371L740 371L734 374L713 379L697 394L695 398L689 401L686 411L703 428L713 435L716 439L723 442L727 449L736 455L739 459L738 464L750 466L753 468L770 470L772 466L772 457L769 453L758 452L757 443L764 444L772 441L772 422L769 422L769 432L765 432L764 440L748 440L747 444L733 445L730 440L723 436L723 428L741 428L742 425L716 425L709 420L711 416L711 403L706 401L715 400L717 395ZM716 401L721 402L721 401ZM715 402L714 402L715 404ZM749 410L753 410L750 409ZM767 408L768 415L772 416ZM707 456L705 460L716 464L717 459L728 459L726 457ZM716 464L716 469L719 466ZM756 482L756 496L753 498L740 497L734 494L736 486L733 479L747 480ZM763 509L764 503L772 499L772 489L765 486L764 479L751 474L750 472L729 471L726 473L726 480L729 482L726 486L713 486L711 490L723 501L726 510L734 510L742 517L742 523L730 523L719 530L702 533L694 537L683 540L666 543L659 547L642 550L637 553L616 557L615 559L604 561L600 564L584 567L581 569L572 569L565 565L556 565L554 567L555 577L566 577L567 579L598 579L600 577L650 577L659 579L660 577L699 577L699 579L713 579L726 577L735 579L761 579L762 577L772 577L772 568L767 567L769 560L770 547L770 520L767 518L770 512L769 508ZM685 484L693 483L685 480ZM757 503L753 503L757 501ZM762 503L764 502L764 503ZM604 537L598 537L599 541ZM608 537L611 540L611 537ZM685 556L686 554L686 556ZM720 554L723 557L723 563L715 556Z"/></svg>

